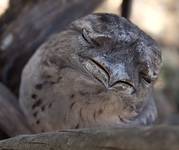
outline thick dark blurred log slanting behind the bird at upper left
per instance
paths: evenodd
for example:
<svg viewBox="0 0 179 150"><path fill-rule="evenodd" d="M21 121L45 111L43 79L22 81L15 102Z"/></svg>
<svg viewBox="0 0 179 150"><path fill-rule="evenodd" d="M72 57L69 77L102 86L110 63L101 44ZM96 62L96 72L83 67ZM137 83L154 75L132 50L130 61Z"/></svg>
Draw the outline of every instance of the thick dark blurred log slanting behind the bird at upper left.
<svg viewBox="0 0 179 150"><path fill-rule="evenodd" d="M6 14L0 21L5 22L0 26L0 80L17 95L22 68L39 45L71 21L92 12L103 0L16 1L19 13L12 3L15 10L7 12L10 21Z"/></svg>

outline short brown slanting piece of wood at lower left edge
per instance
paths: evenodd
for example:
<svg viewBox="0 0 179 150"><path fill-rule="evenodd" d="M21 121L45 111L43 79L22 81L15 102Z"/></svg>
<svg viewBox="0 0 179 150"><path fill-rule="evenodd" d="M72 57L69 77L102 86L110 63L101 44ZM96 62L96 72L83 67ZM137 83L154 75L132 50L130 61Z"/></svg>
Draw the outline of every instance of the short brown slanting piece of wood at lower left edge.
<svg viewBox="0 0 179 150"><path fill-rule="evenodd" d="M15 96L0 83L0 129L8 136L32 133Z"/></svg>

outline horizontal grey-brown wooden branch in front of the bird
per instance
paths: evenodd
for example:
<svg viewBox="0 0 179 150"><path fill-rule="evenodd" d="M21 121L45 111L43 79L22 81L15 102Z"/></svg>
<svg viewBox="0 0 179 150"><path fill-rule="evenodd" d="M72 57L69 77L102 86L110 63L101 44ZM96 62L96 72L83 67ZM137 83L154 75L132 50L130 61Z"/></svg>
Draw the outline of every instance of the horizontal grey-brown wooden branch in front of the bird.
<svg viewBox="0 0 179 150"><path fill-rule="evenodd" d="M21 135L0 150L179 150L179 127L81 129Z"/></svg>

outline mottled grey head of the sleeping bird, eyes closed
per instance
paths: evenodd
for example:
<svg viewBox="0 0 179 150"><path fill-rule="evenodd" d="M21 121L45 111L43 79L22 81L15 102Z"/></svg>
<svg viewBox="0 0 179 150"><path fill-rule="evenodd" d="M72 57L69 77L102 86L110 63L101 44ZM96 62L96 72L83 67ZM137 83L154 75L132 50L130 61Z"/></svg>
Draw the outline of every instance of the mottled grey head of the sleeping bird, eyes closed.
<svg viewBox="0 0 179 150"><path fill-rule="evenodd" d="M60 44L52 50L52 62L57 67L71 68L66 76L71 76L74 89L69 89L75 91L74 95L87 93L80 100L88 103L119 100L127 113L143 109L161 64L160 49L152 38L130 21L112 14L80 18L58 36Z"/></svg>

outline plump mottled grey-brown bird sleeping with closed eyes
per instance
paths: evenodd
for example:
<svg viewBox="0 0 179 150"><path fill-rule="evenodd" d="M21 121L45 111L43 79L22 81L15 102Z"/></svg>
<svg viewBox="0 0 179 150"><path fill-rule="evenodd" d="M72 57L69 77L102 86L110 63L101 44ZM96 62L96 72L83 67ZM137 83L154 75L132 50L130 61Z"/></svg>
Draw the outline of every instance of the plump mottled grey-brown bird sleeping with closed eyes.
<svg viewBox="0 0 179 150"><path fill-rule="evenodd" d="M89 14L31 57L20 107L34 132L152 125L161 62L157 43L131 21Z"/></svg>

